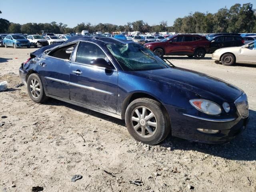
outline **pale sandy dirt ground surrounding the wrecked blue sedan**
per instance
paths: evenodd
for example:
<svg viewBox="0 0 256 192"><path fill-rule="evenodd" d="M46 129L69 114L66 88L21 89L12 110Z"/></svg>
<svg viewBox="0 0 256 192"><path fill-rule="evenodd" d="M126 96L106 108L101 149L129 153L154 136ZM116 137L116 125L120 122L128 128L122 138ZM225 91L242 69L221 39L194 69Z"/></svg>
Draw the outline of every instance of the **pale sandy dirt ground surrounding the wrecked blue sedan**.
<svg viewBox="0 0 256 192"><path fill-rule="evenodd" d="M225 145L169 136L148 146L129 135L123 120L54 99L36 104L25 86L15 88L20 63L34 50L0 48L0 81L8 81L8 90L0 92L0 116L7 116L0 117L0 192L35 186L45 192L256 191L256 66L222 66L210 54L202 60L168 57L242 88L250 122ZM76 174L82 179L72 182Z"/></svg>

